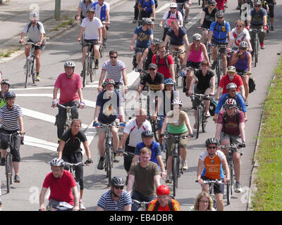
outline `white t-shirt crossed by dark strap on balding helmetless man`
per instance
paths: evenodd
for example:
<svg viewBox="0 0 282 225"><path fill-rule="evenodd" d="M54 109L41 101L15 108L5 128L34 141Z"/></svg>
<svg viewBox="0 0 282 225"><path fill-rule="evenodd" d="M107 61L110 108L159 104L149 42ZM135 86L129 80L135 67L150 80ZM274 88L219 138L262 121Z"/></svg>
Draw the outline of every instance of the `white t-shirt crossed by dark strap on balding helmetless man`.
<svg viewBox="0 0 282 225"><path fill-rule="evenodd" d="M137 146L137 143L142 142L141 134L143 131L152 131L152 126L148 120L145 120L145 122L142 123L139 129L136 123L136 118L128 120L125 128L123 129L123 132L125 134L130 134L128 146L135 148Z"/></svg>

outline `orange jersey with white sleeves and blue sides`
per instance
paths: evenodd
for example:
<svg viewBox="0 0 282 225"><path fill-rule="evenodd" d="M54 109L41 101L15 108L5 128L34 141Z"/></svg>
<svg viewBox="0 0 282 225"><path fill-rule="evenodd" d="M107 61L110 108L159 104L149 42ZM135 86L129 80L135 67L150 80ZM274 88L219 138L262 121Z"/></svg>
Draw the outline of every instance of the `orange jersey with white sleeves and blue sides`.
<svg viewBox="0 0 282 225"><path fill-rule="evenodd" d="M208 151L204 151L200 155L200 160L204 162L204 169L202 171L202 176L205 176L209 179L223 179L223 169L222 169L222 160L226 158L221 150L216 150L216 153L213 158L209 157Z"/></svg>

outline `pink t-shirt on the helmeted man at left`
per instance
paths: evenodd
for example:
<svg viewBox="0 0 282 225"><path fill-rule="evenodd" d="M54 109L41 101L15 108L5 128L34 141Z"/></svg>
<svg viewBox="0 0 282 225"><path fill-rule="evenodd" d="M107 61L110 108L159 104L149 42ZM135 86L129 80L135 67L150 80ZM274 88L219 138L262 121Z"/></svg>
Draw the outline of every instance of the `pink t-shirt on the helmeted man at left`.
<svg viewBox="0 0 282 225"><path fill-rule="evenodd" d="M54 86L60 89L60 104L70 101L79 101L78 89L83 89L80 75L73 73L71 78L68 78L66 72L61 73L56 80Z"/></svg>

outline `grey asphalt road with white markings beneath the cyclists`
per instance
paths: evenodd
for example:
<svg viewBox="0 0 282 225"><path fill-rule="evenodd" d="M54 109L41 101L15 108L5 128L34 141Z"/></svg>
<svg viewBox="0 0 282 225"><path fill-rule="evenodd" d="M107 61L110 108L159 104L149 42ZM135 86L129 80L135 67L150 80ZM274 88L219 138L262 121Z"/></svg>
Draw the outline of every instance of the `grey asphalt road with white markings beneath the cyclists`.
<svg viewBox="0 0 282 225"><path fill-rule="evenodd" d="M157 8L157 24L161 20L165 11L168 10L169 1L159 1ZM195 1L190 9L190 26L188 30L188 38L191 41L192 34L200 32L197 25L200 19L200 6ZM234 27L234 22L239 18L239 12L235 11L236 1L229 3L226 10L226 20ZM122 60L126 65L126 71L130 84L135 85L139 81L135 72L132 72L132 55L130 52L130 40L133 37L135 24L131 23L133 19L134 1L124 1L123 3L111 8L111 27L109 30L108 46L106 51L117 50L118 59ZM166 5L166 6L165 6ZM163 10L161 10L164 6ZM226 205L224 198L225 210L245 211L247 210L247 200L249 195L250 175L252 173L253 155L255 143L257 141L257 132L259 129L260 117L262 115L262 106L264 98L267 94L267 87L273 77L273 70L278 63L277 53L281 52L281 13L282 4L278 2L276 6L276 25L275 32L271 32L266 36L266 49L261 51L259 56L259 65L252 69L252 74L256 78L257 90L249 96L248 121L246 124L247 148L242 158L242 186L243 193L235 193L231 198L231 205ZM64 32L62 35L54 38L48 43L45 51L42 53L40 82L29 84L24 89L23 65L24 56L19 56L16 60L1 65L5 76L11 79L12 89L16 91L18 103L23 108L24 124L25 124L25 145L21 146L22 162L20 163L20 184L12 184L11 193L6 193L5 186L2 185L2 203L3 210L32 210L36 211L39 207L39 192L44 181L44 177L50 172L49 162L56 154L56 127L54 127L55 115L57 109L51 108L52 90L56 77L63 72L63 63L66 60L73 60L76 63L75 71L80 73L81 53L80 45L76 41L78 37L79 27ZM154 30L155 37L162 37L162 30L156 25ZM108 58L100 60L100 68L102 63ZM97 71L99 75L101 69ZM6 78L6 77L5 77ZM97 169L98 150L97 137L94 136L96 131L92 128L92 119L94 115L94 105L97 98L97 80L87 86L83 90L83 95L87 108L80 110L80 119L83 128L87 134L90 143L90 150L94 158L94 164L85 167L85 191L84 202L87 210L95 210L97 201L102 193L108 190L107 179L104 171ZM180 91L180 89L179 89ZM191 109L190 98L186 97L180 91L180 98L185 102L184 107L190 117L190 123L194 123L194 117ZM126 103L125 103L126 104ZM195 197L200 193L199 184L195 183L197 174L197 162L200 153L204 151L204 141L214 136L215 124L212 118L209 118L207 124L207 132L201 133L199 139L191 139L188 143L188 170L180 177L179 187L177 190L176 200L180 203L181 210L188 210L193 204ZM86 158L86 157L85 157ZM123 159L114 165L113 175L126 176L123 168ZM0 168L0 180L5 183L4 167ZM164 181L161 181L164 184Z"/></svg>

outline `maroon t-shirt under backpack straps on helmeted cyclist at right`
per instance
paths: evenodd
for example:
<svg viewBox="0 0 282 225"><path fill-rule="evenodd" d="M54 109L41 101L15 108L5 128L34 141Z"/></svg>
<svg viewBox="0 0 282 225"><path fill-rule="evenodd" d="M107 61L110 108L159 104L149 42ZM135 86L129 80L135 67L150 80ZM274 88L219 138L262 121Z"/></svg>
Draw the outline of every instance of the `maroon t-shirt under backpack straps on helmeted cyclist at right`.
<svg viewBox="0 0 282 225"><path fill-rule="evenodd" d="M217 118L218 124L223 124L223 117L225 112L226 111L223 110L219 113L219 117ZM238 122L239 124L241 122L245 122L244 113L240 110L238 110ZM225 125L225 129L224 127L222 128L222 131L226 132L226 134L229 135L239 136L240 135L239 124L236 121L235 113L232 117L226 115L226 125Z"/></svg>

